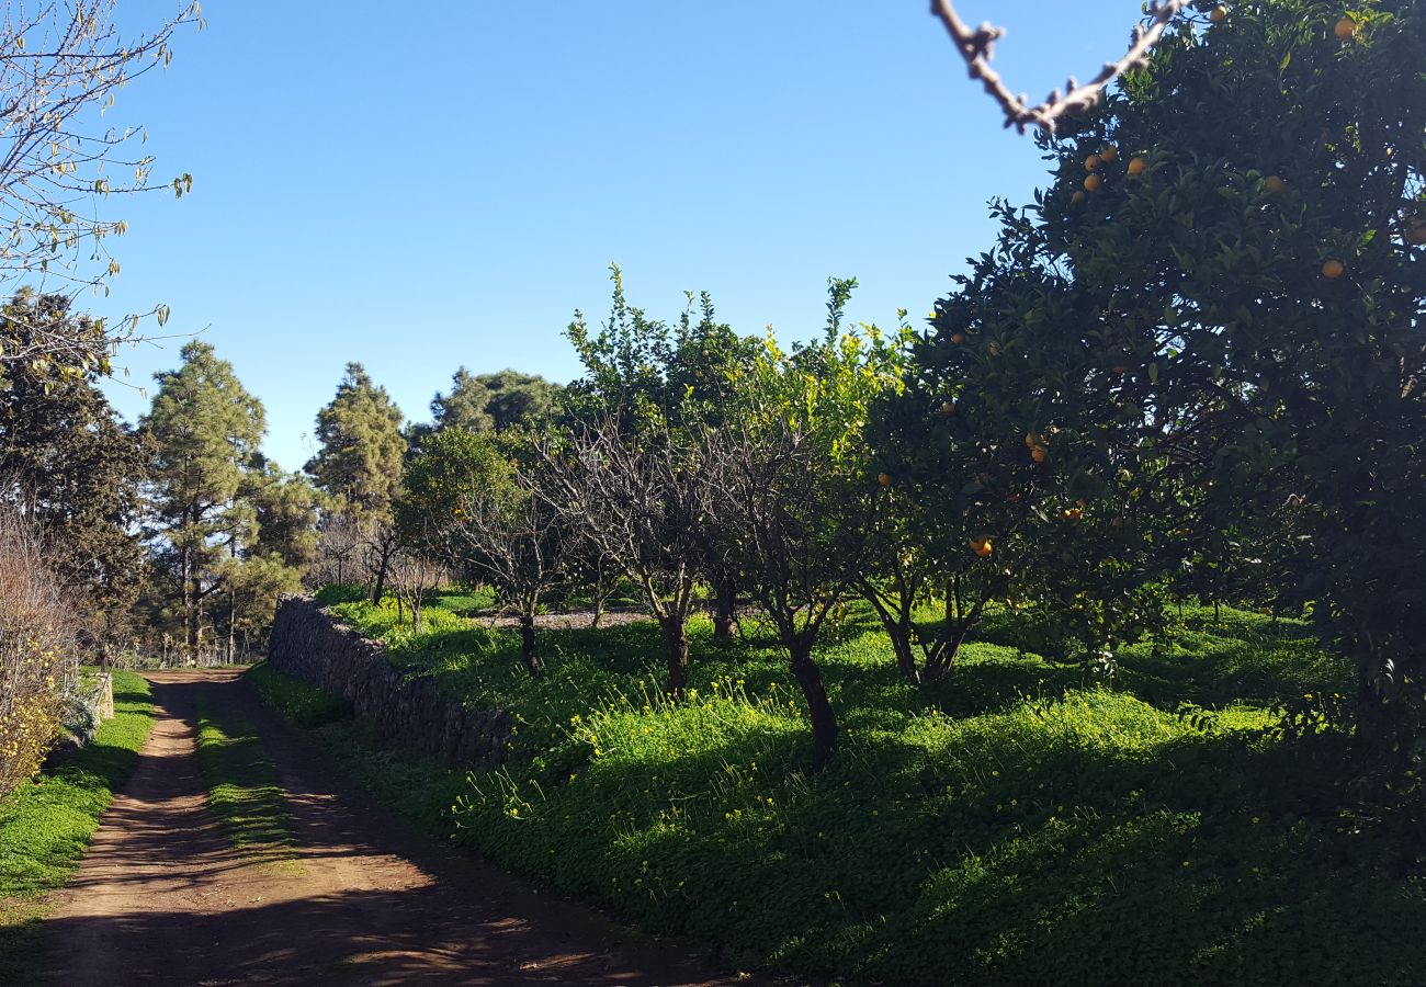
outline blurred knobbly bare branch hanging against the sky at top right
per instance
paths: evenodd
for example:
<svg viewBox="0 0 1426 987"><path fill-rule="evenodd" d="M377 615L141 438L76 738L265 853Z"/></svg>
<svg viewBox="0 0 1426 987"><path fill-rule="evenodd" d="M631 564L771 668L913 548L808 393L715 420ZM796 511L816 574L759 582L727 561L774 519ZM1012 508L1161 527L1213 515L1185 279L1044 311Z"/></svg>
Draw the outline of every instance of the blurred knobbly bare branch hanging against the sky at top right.
<svg viewBox="0 0 1426 987"><path fill-rule="evenodd" d="M1121 58L1104 63L1104 67L1088 83L1081 84L1071 76L1065 81L1064 91L1054 90L1038 106L1030 106L1030 97L1024 93L1015 96L1000 73L990 67L992 48L995 41L1004 37L1004 29L990 24L970 27L955 13L955 4L951 0L931 0L931 14L945 26L955 50L970 68L971 78L978 80L990 97L1000 104L1005 114L1007 127L1015 127L1020 133L1025 133L1025 127L1034 126L1054 133L1055 121L1060 117L1094 106L1117 76L1142 66L1148 58L1149 48L1164 34L1164 29L1186 6L1188 0L1151 0L1148 24L1134 26L1129 34L1129 47Z"/></svg>

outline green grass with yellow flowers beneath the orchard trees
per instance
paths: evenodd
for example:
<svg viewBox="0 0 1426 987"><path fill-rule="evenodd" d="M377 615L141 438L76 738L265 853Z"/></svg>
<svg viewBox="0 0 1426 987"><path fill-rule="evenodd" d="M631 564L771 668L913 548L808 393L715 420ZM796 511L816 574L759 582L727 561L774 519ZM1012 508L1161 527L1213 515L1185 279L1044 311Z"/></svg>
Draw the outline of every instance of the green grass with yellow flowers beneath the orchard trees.
<svg viewBox="0 0 1426 987"><path fill-rule="evenodd" d="M528 755L461 786L355 722L322 727L355 774L729 964L904 984L1426 981L1423 860L1353 814L1343 737L1273 729L1275 705L1352 677L1301 623L1188 610L1101 687L1001 615L923 690L853 612L819 655L843 746L810 776L801 696L756 633L723 643L697 623L674 706L649 625L546 632L535 682L506 632L448 613L414 638L394 608L338 610L414 675L511 710Z"/></svg>

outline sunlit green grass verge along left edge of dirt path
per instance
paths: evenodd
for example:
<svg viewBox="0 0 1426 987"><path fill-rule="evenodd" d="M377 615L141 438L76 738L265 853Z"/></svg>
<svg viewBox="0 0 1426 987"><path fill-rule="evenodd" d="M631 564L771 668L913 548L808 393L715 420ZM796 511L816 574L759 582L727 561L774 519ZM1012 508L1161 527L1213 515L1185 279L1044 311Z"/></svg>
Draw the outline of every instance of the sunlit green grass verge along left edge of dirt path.
<svg viewBox="0 0 1426 987"><path fill-rule="evenodd" d="M41 773L0 800L0 983L26 983L43 896L78 867L114 792L138 764L154 722L148 683L114 672L114 719L63 767Z"/></svg>

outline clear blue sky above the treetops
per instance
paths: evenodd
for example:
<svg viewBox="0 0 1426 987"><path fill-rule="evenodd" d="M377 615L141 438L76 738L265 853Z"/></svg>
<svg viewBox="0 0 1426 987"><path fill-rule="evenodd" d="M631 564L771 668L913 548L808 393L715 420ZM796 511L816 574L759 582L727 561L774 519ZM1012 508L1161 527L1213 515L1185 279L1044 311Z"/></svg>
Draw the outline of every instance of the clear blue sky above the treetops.
<svg viewBox="0 0 1426 987"><path fill-rule="evenodd" d="M133 29L173 9L123 0ZM997 66L1040 97L1117 54L1138 0L961 0L1010 29ZM1072 10L1072 13L1071 13ZM1037 23L1037 14L1052 20ZM299 468L349 359L408 418L461 364L568 381L573 310L674 318L713 292L739 331L814 332L829 275L848 315L927 312L983 251L992 195L1045 165L1001 128L925 0L207 0L208 29L120 96L163 178L130 221L98 314L173 307L267 406ZM120 354L134 387L183 339Z"/></svg>

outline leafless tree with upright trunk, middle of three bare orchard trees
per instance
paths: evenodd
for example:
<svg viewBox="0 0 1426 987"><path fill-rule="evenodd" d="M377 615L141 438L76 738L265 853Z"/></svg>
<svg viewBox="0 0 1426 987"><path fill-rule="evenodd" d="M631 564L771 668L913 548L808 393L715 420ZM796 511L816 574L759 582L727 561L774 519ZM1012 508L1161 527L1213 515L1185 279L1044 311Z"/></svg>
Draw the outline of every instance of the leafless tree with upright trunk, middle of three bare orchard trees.
<svg viewBox="0 0 1426 987"><path fill-rule="evenodd" d="M579 538L643 592L663 632L667 680L689 679L689 613L706 569L722 484L716 462L667 428L630 432L613 415L543 448L549 496Z"/></svg>

